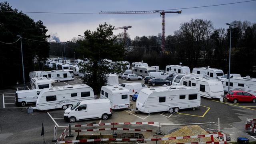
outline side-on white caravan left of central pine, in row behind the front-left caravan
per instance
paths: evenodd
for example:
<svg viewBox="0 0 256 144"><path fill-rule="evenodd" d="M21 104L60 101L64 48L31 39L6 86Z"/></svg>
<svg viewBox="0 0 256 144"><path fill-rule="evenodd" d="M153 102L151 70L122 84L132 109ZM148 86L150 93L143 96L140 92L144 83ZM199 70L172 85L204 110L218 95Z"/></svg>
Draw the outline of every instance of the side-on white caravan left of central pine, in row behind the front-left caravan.
<svg viewBox="0 0 256 144"><path fill-rule="evenodd" d="M74 80L72 70L52 70L41 73L41 76L53 79L54 82L61 82L66 80Z"/></svg>

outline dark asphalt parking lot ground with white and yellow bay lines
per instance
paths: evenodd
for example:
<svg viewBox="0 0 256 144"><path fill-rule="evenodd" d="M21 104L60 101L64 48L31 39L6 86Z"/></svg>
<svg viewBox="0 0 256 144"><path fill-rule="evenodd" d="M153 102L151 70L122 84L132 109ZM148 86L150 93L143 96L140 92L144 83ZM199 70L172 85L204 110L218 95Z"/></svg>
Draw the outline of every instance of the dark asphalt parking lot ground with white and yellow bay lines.
<svg viewBox="0 0 256 144"><path fill-rule="evenodd" d="M121 80L124 82L144 82L144 80ZM63 86L72 84L81 84L82 80L76 77L74 81L54 83L52 86ZM69 124L63 118L62 109L48 111L34 111L31 114L27 113L26 107L19 107L14 104L15 89L0 90L0 141L1 143L10 144L41 144L43 138L40 136L42 123L44 123L45 140L48 144L53 144L54 126L57 126L57 136L63 132L64 128ZM130 99L130 109L134 109L135 103ZM34 107L35 105L30 105ZM218 130L218 118L220 118L220 130L229 133L232 140L236 141L237 137L247 137L250 140L255 140L245 132L246 118L256 118L256 104L253 103L238 103L233 104L224 100L208 100L201 98L201 106L195 110L186 109L180 110L178 113L170 114L168 112L159 112L145 114L130 110L112 111L113 116L108 120L86 120L78 121L74 124L88 123L108 123L108 122L160 122L160 130L170 133L175 128L180 128L184 125L197 124L205 130ZM73 124L72 124L73 125ZM106 127L106 126L105 126ZM141 128L152 129L158 131L158 125L131 125L131 126L116 126L122 128ZM118 131L122 133L122 131ZM99 133L99 132L98 132ZM96 134L81 133L81 134ZM102 134L109 134L109 131L104 131ZM148 138L154 133L148 133ZM158 137L162 137L157 135ZM72 139L72 138L71 138Z"/></svg>

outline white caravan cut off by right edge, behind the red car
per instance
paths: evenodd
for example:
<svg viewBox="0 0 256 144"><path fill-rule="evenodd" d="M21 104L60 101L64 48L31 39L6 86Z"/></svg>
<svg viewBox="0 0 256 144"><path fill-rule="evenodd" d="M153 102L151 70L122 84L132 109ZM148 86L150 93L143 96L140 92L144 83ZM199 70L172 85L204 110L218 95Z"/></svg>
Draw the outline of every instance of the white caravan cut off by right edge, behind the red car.
<svg viewBox="0 0 256 144"><path fill-rule="evenodd" d="M228 92L228 79L224 81L223 88ZM230 90L244 90L256 95L256 78L250 78L250 76L230 78Z"/></svg>

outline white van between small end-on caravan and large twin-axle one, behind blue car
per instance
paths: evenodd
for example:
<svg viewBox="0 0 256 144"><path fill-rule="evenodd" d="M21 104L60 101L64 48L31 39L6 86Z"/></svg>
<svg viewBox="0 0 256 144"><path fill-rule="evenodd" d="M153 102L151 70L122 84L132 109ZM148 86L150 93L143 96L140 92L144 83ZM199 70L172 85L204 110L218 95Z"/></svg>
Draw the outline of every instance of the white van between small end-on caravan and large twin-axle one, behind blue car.
<svg viewBox="0 0 256 144"><path fill-rule="evenodd" d="M127 88L130 91L130 96L139 93L143 88L148 88L148 86L141 82L122 83L120 86Z"/></svg>

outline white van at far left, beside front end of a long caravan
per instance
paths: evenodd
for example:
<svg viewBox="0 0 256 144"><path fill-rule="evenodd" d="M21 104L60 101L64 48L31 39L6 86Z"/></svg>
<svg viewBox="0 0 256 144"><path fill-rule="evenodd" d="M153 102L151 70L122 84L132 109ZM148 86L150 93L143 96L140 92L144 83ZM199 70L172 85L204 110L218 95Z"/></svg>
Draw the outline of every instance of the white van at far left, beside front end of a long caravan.
<svg viewBox="0 0 256 144"><path fill-rule="evenodd" d="M36 103L37 97L41 90L18 90L15 92L15 104L20 106L26 106L27 104Z"/></svg>

